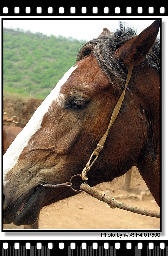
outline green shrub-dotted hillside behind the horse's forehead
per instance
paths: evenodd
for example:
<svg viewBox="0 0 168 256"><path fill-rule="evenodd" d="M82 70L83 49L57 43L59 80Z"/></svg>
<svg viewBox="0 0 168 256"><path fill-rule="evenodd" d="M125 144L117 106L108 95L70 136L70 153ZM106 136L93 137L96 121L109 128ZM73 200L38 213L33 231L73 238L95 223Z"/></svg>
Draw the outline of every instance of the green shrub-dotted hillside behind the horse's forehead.
<svg viewBox="0 0 168 256"><path fill-rule="evenodd" d="M3 31L4 94L44 99L76 62L84 41L21 30Z"/></svg>

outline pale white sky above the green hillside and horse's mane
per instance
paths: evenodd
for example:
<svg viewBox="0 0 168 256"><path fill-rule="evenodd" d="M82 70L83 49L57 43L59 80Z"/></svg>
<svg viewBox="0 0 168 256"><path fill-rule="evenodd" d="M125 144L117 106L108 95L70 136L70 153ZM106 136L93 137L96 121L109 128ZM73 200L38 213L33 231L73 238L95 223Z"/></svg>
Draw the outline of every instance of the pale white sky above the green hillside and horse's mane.
<svg viewBox="0 0 168 256"><path fill-rule="evenodd" d="M139 34L154 22L154 19L127 19L126 25L134 27ZM40 32L44 35L72 37L78 40L91 40L98 37L103 28L111 32L119 28L117 19L4 19L4 28L23 29L33 33Z"/></svg>

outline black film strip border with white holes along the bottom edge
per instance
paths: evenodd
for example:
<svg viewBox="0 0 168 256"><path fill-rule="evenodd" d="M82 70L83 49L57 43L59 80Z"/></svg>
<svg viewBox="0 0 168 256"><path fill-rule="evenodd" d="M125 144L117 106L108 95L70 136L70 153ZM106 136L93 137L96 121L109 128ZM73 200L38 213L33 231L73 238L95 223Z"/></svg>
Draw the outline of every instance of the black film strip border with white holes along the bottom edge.
<svg viewBox="0 0 168 256"><path fill-rule="evenodd" d="M167 241L8 241L0 242L1 256L168 256Z"/></svg>

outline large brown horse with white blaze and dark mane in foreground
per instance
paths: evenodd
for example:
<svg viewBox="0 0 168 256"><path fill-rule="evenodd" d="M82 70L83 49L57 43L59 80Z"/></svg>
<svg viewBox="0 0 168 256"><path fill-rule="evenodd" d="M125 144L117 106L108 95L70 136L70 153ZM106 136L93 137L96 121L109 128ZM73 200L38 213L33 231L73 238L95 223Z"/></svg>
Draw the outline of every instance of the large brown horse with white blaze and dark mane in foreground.
<svg viewBox="0 0 168 256"><path fill-rule="evenodd" d="M3 157L4 223L33 224L83 180L93 187L132 166L160 204L159 27L137 35L120 23L82 46Z"/></svg>

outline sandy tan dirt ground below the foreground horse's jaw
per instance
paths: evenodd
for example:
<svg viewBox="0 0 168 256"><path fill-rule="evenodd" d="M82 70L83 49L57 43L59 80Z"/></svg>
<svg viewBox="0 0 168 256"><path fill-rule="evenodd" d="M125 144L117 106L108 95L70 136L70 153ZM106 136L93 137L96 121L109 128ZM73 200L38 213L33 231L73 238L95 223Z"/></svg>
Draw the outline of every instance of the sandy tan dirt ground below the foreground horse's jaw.
<svg viewBox="0 0 168 256"><path fill-rule="evenodd" d="M102 183L95 188L117 201L132 206L159 211L154 198L137 170L132 171L130 191L125 191L125 177L111 184ZM14 224L4 229L24 229ZM158 230L160 219L112 209L106 203L82 192L41 210L39 229L43 230Z"/></svg>

